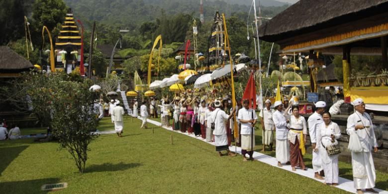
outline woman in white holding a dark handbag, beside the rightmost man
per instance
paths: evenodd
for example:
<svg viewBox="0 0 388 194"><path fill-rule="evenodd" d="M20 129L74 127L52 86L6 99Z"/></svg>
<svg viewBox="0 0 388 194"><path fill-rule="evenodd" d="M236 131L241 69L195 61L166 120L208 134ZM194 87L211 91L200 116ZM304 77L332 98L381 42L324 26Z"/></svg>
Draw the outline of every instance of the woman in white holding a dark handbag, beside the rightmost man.
<svg viewBox="0 0 388 194"><path fill-rule="evenodd" d="M319 154L322 160L323 171L325 172L325 183L331 186L338 185L338 155L328 155L326 148L328 146L338 146L338 141L341 137L341 130L337 123L331 121L330 112L322 114L323 122L317 127L316 147L319 149Z"/></svg>

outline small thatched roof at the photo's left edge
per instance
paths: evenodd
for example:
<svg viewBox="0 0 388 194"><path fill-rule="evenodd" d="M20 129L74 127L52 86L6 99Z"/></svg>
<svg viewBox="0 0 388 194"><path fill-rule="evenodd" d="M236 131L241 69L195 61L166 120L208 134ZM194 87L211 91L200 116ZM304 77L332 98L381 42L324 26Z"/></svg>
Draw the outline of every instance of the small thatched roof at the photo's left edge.
<svg viewBox="0 0 388 194"><path fill-rule="evenodd" d="M33 68L31 62L17 54L7 46L0 46L0 71L1 70L26 70Z"/></svg>

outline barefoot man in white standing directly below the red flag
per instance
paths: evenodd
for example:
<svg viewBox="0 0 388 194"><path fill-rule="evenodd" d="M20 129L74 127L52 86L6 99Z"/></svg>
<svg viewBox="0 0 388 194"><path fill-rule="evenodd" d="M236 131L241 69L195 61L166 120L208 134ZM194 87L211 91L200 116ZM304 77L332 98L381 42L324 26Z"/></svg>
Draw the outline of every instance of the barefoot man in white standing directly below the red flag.
<svg viewBox="0 0 388 194"><path fill-rule="evenodd" d="M255 124L257 114L255 110L249 108L249 99L243 100L243 108L238 111L238 121L241 123L241 154L243 161L247 161L245 155L248 153L249 160L253 160L253 150L255 147Z"/></svg>

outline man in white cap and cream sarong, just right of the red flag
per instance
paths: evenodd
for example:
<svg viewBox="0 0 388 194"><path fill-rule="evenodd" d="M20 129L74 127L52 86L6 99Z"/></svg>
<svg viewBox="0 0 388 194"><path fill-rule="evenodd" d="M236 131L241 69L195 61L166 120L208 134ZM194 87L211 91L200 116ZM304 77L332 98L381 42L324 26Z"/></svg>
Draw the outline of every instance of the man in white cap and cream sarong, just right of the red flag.
<svg viewBox="0 0 388 194"><path fill-rule="evenodd" d="M263 150L265 151L265 146L270 146L270 151L272 151L272 145L274 141L274 129L275 124L272 120L272 114L274 109L271 109L271 100L267 99L265 101L266 107L260 111L259 116L261 117L261 123L263 128Z"/></svg>

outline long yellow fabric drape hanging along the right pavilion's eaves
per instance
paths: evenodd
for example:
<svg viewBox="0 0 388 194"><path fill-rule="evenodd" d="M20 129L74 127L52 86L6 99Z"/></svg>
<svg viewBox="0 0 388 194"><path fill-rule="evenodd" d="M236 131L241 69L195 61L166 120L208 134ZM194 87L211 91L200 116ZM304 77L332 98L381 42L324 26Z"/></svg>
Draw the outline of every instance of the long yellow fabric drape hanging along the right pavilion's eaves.
<svg viewBox="0 0 388 194"><path fill-rule="evenodd" d="M350 31L350 32L342 33L342 34L337 34L337 35L333 35L333 36L328 36L328 37L317 39L317 40L311 40L308 42L289 45L289 46L284 47L283 51L287 51L287 50L291 50L291 49L300 49L300 48L309 47L309 46L313 46L313 45L325 44L328 42L341 41L344 39L353 38L353 37L366 35L366 34L377 33L377 32L381 32L381 31L385 31L385 30L388 30L388 23L380 24L380 25L372 26L372 27L368 27L368 28L363 28L363 29L359 29L359 30L354 30L354 31Z"/></svg>

